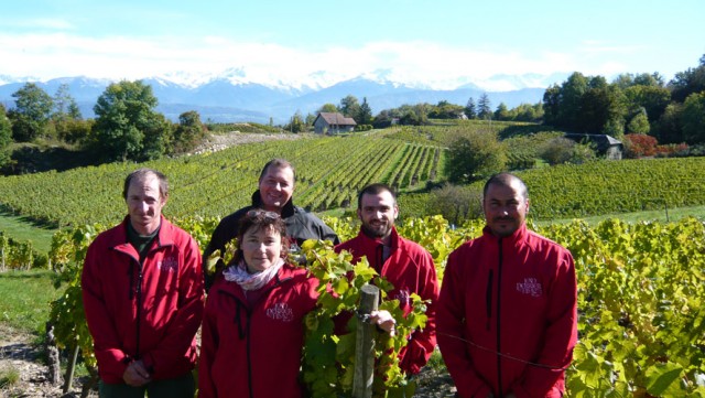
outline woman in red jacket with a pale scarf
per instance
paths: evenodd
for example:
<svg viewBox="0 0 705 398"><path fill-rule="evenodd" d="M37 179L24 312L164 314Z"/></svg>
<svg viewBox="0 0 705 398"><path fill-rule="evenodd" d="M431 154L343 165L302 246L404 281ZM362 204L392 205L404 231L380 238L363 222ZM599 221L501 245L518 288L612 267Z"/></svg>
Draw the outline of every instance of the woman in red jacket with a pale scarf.
<svg viewBox="0 0 705 398"><path fill-rule="evenodd" d="M234 260L208 293L198 396L300 398L303 319L318 281L286 262L286 227L272 212L240 222Z"/></svg>

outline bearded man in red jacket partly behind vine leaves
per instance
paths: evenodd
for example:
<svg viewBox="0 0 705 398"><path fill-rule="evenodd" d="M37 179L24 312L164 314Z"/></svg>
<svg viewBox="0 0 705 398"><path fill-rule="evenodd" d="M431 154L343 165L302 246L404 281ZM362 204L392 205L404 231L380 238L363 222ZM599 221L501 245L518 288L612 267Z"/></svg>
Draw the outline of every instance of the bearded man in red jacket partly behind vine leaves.
<svg viewBox="0 0 705 398"><path fill-rule="evenodd" d="M391 300L399 300L404 314L411 312L411 293L430 300L426 326L415 331L403 349L400 367L408 375L417 374L436 345L435 306L438 298L438 279L431 254L419 244L397 234L394 219L399 206L393 191L383 184L366 186L358 195L357 215L362 223L360 233L352 239L336 246L336 251L347 250L354 261L367 257L370 266L392 283ZM393 319L387 311L373 313L370 320L381 329L393 333ZM339 329L339 326L338 326Z"/></svg>

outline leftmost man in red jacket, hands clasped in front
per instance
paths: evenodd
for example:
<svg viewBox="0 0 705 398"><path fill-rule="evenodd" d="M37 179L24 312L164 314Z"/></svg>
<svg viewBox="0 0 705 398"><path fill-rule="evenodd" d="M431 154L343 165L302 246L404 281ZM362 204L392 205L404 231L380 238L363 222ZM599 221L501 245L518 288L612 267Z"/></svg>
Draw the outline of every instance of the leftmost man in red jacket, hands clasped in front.
<svg viewBox="0 0 705 398"><path fill-rule="evenodd" d="M82 273L99 395L193 398L204 308L198 245L162 216L162 173L132 172L123 197L128 216L90 244Z"/></svg>

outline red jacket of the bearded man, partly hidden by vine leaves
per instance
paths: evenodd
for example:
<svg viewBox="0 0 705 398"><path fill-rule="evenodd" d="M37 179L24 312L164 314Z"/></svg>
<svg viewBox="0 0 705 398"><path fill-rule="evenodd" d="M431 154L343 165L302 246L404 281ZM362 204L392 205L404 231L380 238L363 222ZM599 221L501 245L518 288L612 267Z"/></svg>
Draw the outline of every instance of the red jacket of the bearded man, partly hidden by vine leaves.
<svg viewBox="0 0 705 398"><path fill-rule="evenodd" d="M411 293L419 294L423 300L431 300L426 309L429 321L423 331L415 331L409 344L402 352L400 366L406 374L414 375L429 362L436 346L436 301L438 299L438 278L433 257L419 244L404 239L392 228L391 255L382 263L382 243L372 239L361 230L352 239L335 247L337 252L347 250L352 254L354 262L367 257L368 262L377 272L384 277L394 289L389 292L390 300L399 300L404 314L411 312Z"/></svg>

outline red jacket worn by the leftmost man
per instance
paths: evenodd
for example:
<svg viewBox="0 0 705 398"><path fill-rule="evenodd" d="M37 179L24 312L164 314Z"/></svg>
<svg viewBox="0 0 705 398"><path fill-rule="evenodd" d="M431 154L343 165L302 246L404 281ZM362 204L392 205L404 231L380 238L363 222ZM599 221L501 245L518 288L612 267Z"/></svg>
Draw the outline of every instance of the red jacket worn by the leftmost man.
<svg viewBox="0 0 705 398"><path fill-rule="evenodd" d="M140 265L127 223L88 247L82 273L86 321L105 383L122 383L131 359L153 379L178 377L196 363L195 335L203 315L200 251L183 229L162 217Z"/></svg>

